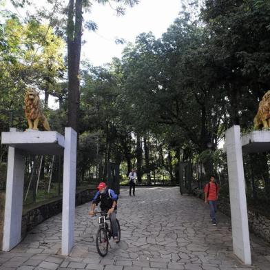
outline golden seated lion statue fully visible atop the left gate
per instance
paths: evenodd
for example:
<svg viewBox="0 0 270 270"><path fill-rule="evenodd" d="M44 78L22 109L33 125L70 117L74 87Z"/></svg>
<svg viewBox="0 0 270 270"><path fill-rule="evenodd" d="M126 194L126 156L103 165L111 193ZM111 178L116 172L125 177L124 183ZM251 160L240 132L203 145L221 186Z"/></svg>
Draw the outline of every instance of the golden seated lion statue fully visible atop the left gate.
<svg viewBox="0 0 270 270"><path fill-rule="evenodd" d="M50 130L50 125L48 120L45 118L42 110L41 103L39 100L39 93L32 89L28 88L25 93L25 116L28 121L28 129L39 130L39 122L43 124L45 130Z"/></svg>

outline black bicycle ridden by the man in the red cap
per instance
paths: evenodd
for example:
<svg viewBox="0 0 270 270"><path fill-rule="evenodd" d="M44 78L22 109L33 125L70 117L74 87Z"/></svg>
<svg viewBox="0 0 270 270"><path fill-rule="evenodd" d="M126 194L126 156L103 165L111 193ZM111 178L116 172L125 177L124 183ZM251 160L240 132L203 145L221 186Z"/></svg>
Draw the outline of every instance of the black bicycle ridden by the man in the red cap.
<svg viewBox="0 0 270 270"><path fill-rule="evenodd" d="M98 218L99 228L96 233L96 249L98 251L98 254L104 257L107 255L107 252L109 250L109 244L110 244L109 240L113 236L112 222L110 220L110 217L107 217L107 213L104 213L103 211L94 212L95 216L96 214L101 214L101 216ZM110 228L105 220L110 220ZM117 224L117 230L118 230L118 240L116 243L118 243L121 238L121 228L120 228L120 223L117 218L116 218L116 224Z"/></svg>

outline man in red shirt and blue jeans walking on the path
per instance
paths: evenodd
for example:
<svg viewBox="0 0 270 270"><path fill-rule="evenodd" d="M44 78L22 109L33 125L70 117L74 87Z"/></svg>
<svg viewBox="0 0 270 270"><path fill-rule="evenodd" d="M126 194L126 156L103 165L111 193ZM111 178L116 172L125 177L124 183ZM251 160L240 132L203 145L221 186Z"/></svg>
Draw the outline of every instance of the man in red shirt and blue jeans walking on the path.
<svg viewBox="0 0 270 270"><path fill-rule="evenodd" d="M205 203L210 205L210 216L212 225L216 226L216 210L217 210L217 200L219 187L215 181L215 176L210 177L210 182L205 185Z"/></svg>

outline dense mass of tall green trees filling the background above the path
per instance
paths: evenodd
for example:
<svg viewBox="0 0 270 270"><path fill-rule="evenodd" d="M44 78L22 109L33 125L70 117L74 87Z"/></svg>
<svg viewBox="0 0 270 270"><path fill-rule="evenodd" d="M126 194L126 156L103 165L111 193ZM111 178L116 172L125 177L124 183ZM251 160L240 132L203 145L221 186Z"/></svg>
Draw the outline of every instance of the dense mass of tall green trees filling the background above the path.
<svg viewBox="0 0 270 270"><path fill-rule="evenodd" d="M225 129L252 129L269 90L268 1L186 1L162 37L139 34L103 67L80 59L83 30L98 27L83 21L92 1L50 4L53 19L50 10L39 10L25 22L5 14L1 24L3 130L10 112L19 112L12 124L24 127L21 97L30 84L45 92L45 105L48 94L59 98L60 109L48 109L53 127L61 132L68 123L79 133L79 181L90 173L105 178L112 161L124 173L136 167L148 183L156 175L176 183L183 162L203 164L205 174L225 167L217 150ZM123 6L116 11L122 14Z"/></svg>

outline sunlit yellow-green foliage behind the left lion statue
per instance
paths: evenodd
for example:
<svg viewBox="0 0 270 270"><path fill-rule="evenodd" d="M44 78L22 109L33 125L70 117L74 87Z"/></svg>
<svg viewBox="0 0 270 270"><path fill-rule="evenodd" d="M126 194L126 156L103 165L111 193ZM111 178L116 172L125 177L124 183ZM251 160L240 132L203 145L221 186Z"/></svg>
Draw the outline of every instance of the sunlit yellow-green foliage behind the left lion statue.
<svg viewBox="0 0 270 270"><path fill-rule="evenodd" d="M14 14L6 16L0 25L0 132L8 131L10 126L22 130L27 127L25 87L56 94L62 91L59 79L65 72L64 41L49 25L36 19L21 23ZM59 125L55 127L61 130ZM5 153L6 147L1 146L0 157Z"/></svg>

